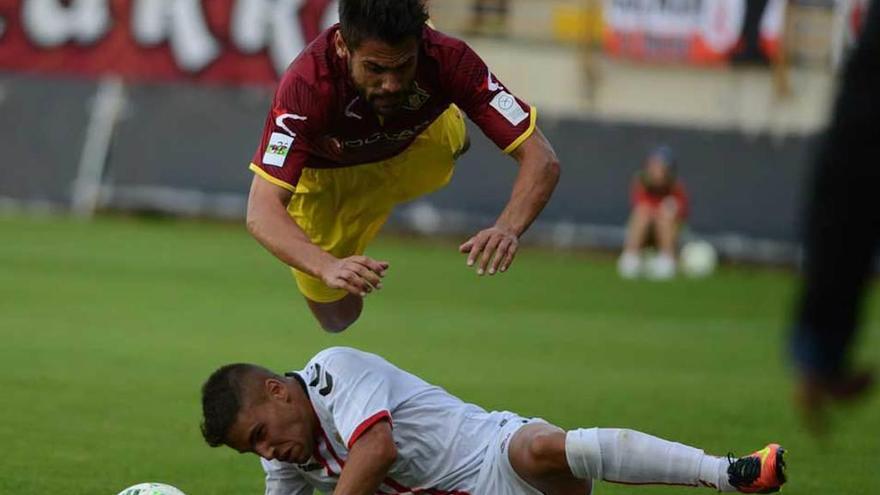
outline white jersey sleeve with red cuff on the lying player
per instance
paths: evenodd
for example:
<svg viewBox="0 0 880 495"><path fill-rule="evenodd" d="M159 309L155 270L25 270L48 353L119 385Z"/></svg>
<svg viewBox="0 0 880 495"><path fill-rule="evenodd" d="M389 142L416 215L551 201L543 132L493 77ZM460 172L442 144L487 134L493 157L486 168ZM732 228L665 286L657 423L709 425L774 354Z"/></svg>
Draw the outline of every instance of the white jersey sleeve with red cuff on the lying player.
<svg viewBox="0 0 880 495"><path fill-rule="evenodd" d="M346 348L316 359L306 370L308 385L323 396L349 449L374 424L392 422L395 372L377 356Z"/></svg>

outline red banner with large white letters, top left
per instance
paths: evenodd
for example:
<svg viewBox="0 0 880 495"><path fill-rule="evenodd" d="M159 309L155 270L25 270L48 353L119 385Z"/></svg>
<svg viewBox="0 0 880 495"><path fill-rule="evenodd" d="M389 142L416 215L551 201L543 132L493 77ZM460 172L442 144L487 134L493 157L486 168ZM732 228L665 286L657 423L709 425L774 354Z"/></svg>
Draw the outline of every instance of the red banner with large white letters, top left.
<svg viewBox="0 0 880 495"><path fill-rule="evenodd" d="M272 84L334 0L0 0L0 70Z"/></svg>

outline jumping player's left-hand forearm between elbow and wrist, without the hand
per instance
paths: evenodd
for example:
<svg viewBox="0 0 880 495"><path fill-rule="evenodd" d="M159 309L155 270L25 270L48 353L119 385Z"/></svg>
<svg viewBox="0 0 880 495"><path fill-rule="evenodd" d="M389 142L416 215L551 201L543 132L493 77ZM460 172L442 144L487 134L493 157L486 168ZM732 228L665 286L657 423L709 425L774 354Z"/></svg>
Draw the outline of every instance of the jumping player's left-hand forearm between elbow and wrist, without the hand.
<svg viewBox="0 0 880 495"><path fill-rule="evenodd" d="M323 267L335 260L308 238L281 205L251 206L247 226L251 235L276 258L313 277L320 278Z"/></svg>

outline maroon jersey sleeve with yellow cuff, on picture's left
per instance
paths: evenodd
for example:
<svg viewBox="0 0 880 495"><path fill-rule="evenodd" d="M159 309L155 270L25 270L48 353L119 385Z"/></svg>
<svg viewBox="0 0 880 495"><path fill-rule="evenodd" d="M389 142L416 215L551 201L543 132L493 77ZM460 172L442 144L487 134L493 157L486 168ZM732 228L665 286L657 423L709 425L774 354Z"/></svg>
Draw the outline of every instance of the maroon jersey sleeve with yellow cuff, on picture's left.
<svg viewBox="0 0 880 495"><path fill-rule="evenodd" d="M315 91L305 82L294 80L279 87L266 117L260 145L250 169L263 179L296 191L315 136L320 135L323 112Z"/></svg>

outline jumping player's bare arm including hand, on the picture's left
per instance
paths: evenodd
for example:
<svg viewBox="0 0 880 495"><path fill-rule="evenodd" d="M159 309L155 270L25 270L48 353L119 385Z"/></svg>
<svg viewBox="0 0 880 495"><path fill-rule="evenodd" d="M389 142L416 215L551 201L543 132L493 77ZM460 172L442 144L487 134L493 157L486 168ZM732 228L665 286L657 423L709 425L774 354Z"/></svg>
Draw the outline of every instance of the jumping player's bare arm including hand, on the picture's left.
<svg viewBox="0 0 880 495"><path fill-rule="evenodd" d="M288 266L320 278L329 287L361 297L381 289L389 264L367 256L337 259L316 246L287 213L292 195L254 176L247 211L248 230L254 238Z"/></svg>

